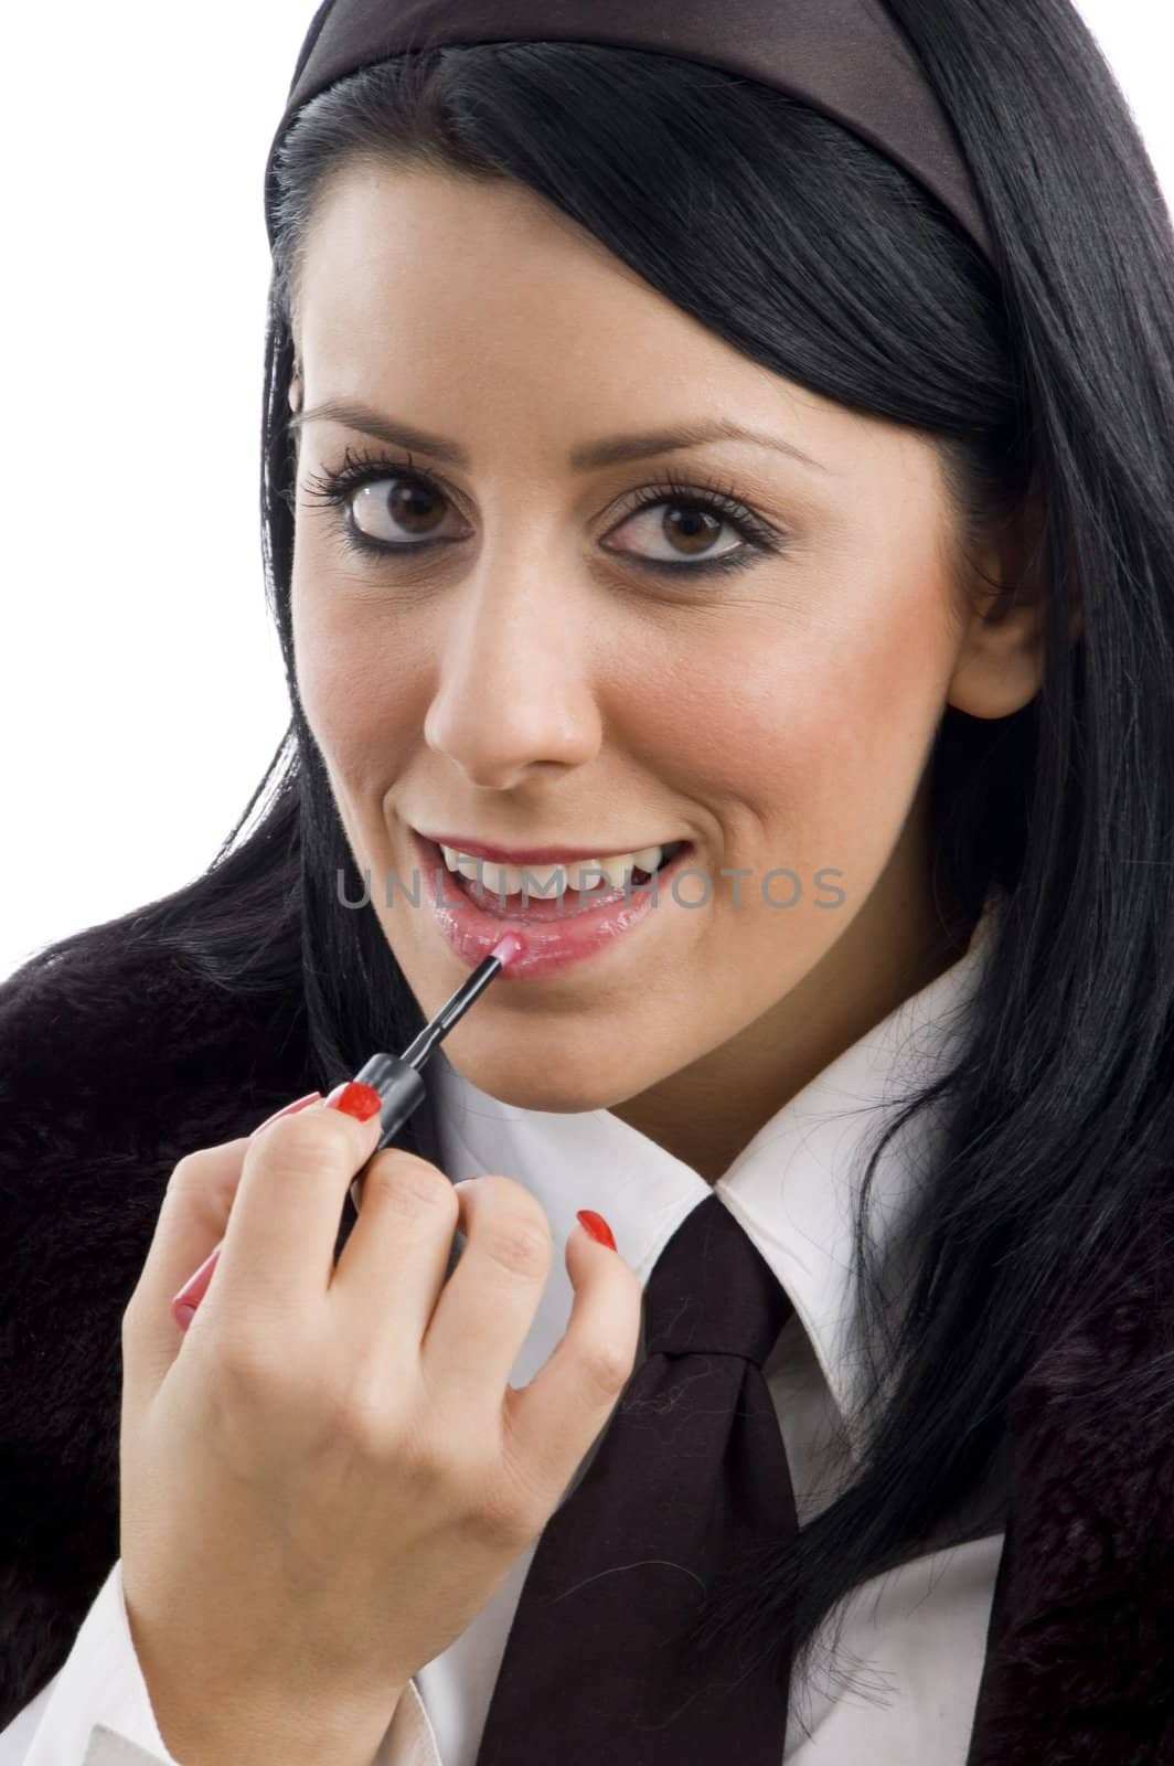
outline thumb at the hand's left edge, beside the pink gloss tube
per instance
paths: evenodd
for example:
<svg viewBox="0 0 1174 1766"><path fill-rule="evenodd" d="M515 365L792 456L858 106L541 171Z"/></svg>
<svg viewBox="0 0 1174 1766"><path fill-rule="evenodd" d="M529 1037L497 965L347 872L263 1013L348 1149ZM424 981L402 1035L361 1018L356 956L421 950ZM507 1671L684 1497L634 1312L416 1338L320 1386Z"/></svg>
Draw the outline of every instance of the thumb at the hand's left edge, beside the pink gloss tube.
<svg viewBox="0 0 1174 1766"><path fill-rule="evenodd" d="M198 1272L199 1298L212 1280L252 1136L268 1128L279 1116L291 1116L318 1102L320 1097L320 1091L309 1091L267 1116L251 1136L201 1148L178 1162L168 1181L147 1263L124 1317L127 1381L141 1377L157 1383L175 1362L184 1335L171 1302Z"/></svg>

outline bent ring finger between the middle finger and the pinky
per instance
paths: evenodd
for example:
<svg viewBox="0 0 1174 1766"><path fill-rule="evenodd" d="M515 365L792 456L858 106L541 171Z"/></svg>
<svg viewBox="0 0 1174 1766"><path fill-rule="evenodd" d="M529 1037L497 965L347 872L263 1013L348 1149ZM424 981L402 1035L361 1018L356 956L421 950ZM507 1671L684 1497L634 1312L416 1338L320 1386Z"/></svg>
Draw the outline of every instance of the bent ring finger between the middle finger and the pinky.
<svg viewBox="0 0 1174 1766"><path fill-rule="evenodd" d="M422 1367L455 1418L500 1418L551 1270L551 1226L514 1178L466 1178L454 1196L466 1245L424 1335Z"/></svg>

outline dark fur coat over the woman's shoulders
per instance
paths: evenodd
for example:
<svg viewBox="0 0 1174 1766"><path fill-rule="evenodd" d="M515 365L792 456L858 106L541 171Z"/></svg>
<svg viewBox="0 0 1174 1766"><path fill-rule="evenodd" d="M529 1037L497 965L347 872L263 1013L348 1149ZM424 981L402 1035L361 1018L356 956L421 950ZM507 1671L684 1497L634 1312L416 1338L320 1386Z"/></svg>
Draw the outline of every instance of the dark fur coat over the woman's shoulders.
<svg viewBox="0 0 1174 1766"><path fill-rule="evenodd" d="M298 1024L99 932L0 987L0 1727L118 1556L122 1312L171 1169L323 1088ZM966 1766L1174 1766L1174 1413L1087 1399L1170 1392L1174 1270L1167 1300L1118 1284L1017 1388Z"/></svg>

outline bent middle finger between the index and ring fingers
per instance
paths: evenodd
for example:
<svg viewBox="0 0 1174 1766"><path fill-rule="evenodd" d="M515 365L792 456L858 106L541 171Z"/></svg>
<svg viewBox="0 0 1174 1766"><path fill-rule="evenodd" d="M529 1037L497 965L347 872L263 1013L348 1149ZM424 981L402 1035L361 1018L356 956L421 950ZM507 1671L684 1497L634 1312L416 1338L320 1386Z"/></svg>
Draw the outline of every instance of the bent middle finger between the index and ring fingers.
<svg viewBox="0 0 1174 1766"><path fill-rule="evenodd" d="M362 1210L330 1291L350 1309L376 1365L418 1365L459 1219L452 1180L427 1158L392 1146L369 1160Z"/></svg>

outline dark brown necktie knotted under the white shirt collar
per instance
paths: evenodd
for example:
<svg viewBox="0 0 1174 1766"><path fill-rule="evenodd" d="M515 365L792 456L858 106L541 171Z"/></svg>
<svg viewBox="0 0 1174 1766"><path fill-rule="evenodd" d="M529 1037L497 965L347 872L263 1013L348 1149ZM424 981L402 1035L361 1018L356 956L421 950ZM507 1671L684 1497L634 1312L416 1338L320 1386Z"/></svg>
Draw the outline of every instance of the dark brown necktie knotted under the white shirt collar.
<svg viewBox="0 0 1174 1766"><path fill-rule="evenodd" d="M787 1676L680 1653L711 1577L798 1526L763 1362L793 1312L717 1194L644 1284L646 1360L538 1536L477 1766L780 1766Z"/></svg>

